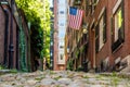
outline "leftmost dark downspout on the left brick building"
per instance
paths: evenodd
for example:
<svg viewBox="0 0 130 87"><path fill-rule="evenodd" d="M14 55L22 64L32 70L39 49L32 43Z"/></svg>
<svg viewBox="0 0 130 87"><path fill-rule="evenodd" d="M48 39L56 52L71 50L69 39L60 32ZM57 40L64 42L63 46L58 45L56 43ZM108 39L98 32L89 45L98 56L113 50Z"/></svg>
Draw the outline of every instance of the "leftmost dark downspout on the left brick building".
<svg viewBox="0 0 130 87"><path fill-rule="evenodd" d="M8 64L8 35L9 35L9 11L6 9L4 10L4 18L5 18L5 29L4 29L4 60L3 60L3 65L6 66Z"/></svg>

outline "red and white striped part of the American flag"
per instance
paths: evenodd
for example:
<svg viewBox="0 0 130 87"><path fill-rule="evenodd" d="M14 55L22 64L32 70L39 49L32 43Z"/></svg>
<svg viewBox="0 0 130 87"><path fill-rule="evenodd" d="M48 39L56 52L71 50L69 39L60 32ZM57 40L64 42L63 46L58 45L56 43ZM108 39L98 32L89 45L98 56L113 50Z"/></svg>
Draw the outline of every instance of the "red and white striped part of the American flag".
<svg viewBox="0 0 130 87"><path fill-rule="evenodd" d="M73 10L70 10L70 11L73 11ZM69 13L69 22L68 22L69 24L68 24L68 26L70 28L74 28L74 29L79 29L80 26L81 26L81 22L82 22L82 15L83 15L82 10L77 10L76 15L73 15L73 14Z"/></svg>

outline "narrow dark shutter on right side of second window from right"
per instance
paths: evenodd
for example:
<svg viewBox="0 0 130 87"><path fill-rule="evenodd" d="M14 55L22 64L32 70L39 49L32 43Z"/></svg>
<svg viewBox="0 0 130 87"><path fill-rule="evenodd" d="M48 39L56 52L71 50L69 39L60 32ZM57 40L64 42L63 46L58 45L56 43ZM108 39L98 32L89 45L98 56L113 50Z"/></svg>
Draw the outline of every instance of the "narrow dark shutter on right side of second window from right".
<svg viewBox="0 0 130 87"><path fill-rule="evenodd" d="M103 13L103 42L106 42L106 9L104 10Z"/></svg>

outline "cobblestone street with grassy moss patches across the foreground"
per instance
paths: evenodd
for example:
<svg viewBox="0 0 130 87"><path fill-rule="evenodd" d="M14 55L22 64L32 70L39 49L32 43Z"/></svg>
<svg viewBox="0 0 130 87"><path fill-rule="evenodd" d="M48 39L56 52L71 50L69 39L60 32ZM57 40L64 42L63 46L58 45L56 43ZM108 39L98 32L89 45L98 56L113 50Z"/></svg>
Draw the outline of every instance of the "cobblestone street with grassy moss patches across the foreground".
<svg viewBox="0 0 130 87"><path fill-rule="evenodd" d="M130 78L83 72L12 73L0 76L0 87L130 87Z"/></svg>

